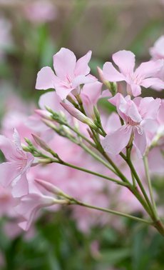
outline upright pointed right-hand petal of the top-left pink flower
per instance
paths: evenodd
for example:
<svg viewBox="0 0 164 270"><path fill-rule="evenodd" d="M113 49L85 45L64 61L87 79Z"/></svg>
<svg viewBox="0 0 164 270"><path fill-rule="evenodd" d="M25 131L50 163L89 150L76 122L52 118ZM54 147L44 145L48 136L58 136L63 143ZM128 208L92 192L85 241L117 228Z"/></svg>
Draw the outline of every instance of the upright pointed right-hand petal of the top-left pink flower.
<svg viewBox="0 0 164 270"><path fill-rule="evenodd" d="M88 62L91 60L91 55L92 52L88 51L86 55L78 59L76 62L76 67L75 67L75 75L87 75L90 72L90 67L88 66Z"/></svg>

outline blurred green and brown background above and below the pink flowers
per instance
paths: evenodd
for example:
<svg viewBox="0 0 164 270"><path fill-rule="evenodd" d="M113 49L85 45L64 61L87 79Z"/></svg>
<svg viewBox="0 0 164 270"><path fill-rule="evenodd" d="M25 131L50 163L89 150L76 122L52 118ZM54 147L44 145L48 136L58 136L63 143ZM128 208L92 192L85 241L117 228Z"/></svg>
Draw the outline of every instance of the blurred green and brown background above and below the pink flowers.
<svg viewBox="0 0 164 270"><path fill-rule="evenodd" d="M35 90L36 74L52 66L52 56L62 46L77 58L91 49L95 75L96 66L120 49L133 51L138 62L148 61L150 46L164 33L163 14L163 0L0 0L1 119L18 106L14 99L22 99L32 113L31 104L43 93ZM160 196L163 187L163 181L155 184ZM12 237L4 233L5 222L2 216L1 269L164 269L163 238L132 221L123 219L122 230L106 224L85 234L63 210L43 214L32 236Z"/></svg>

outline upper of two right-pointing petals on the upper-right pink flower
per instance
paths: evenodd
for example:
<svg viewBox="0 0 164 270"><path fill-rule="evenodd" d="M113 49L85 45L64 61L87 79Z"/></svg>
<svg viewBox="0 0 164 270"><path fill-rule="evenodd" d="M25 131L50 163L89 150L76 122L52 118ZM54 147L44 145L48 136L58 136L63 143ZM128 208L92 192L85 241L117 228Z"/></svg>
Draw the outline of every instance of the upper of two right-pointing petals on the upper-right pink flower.
<svg viewBox="0 0 164 270"><path fill-rule="evenodd" d="M135 76L142 76L143 79L148 78L155 75L162 67L163 60L161 59L157 61L147 61L138 66L138 69L135 70Z"/></svg>

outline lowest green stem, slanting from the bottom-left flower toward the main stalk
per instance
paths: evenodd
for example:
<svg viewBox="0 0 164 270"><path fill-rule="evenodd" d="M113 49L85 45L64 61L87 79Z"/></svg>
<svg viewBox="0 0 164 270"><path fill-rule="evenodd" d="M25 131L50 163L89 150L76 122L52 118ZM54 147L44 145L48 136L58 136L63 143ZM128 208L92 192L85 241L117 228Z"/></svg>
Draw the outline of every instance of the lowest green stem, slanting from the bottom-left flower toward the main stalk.
<svg viewBox="0 0 164 270"><path fill-rule="evenodd" d="M123 216L123 217L126 217L128 219L133 219L135 221L140 221L140 222L143 222L145 224L149 224L149 225L153 224L151 221L148 221L148 220L145 220L145 219L140 219L137 216L131 216L131 215L119 212L119 211L114 211L114 210L106 209L106 208L103 208L103 207L93 206L91 204L85 204L85 203L83 203L81 201L76 201L76 200L75 200L75 203L80 205L80 206L85 206L85 207L90 208L90 209L96 209L96 210L100 210L100 211L107 212L107 213L110 213L110 214L115 214L117 216Z"/></svg>

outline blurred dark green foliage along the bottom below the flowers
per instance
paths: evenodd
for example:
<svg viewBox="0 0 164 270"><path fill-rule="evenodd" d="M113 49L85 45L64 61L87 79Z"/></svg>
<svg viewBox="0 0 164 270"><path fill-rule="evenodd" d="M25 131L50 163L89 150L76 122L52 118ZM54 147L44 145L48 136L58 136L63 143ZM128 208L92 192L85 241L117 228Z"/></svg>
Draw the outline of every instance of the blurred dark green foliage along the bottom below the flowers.
<svg viewBox="0 0 164 270"><path fill-rule="evenodd" d="M32 238L10 241L1 224L0 249L6 259L1 270L162 270L163 237L133 221L125 225L124 232L105 226L83 234L63 211L42 216ZM94 241L99 245L95 252Z"/></svg>

